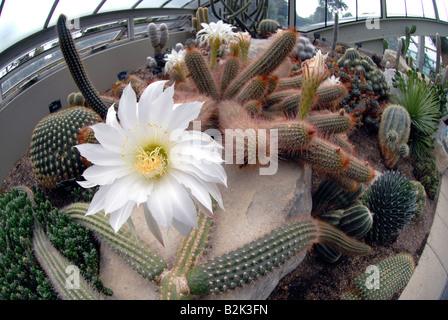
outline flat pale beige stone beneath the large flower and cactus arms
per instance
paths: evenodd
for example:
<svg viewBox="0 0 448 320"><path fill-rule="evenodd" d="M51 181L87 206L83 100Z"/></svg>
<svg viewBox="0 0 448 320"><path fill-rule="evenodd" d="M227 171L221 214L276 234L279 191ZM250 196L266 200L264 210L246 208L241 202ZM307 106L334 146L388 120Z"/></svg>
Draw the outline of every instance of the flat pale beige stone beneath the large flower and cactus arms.
<svg viewBox="0 0 448 320"><path fill-rule="evenodd" d="M285 222L311 212L311 169L291 162L280 162L274 175L262 176L258 168L239 169L224 165L228 188L221 187L224 208L217 209L206 259L235 250L261 237ZM173 265L182 236L174 229L162 229L165 247L149 232L143 210L135 208L132 220L140 239ZM266 299L278 281L296 268L306 252L293 257L285 266L259 281L226 294L206 299ZM157 286L143 279L107 246L101 248L100 278L114 291L113 299L158 299ZM201 298L201 297L199 297Z"/></svg>

